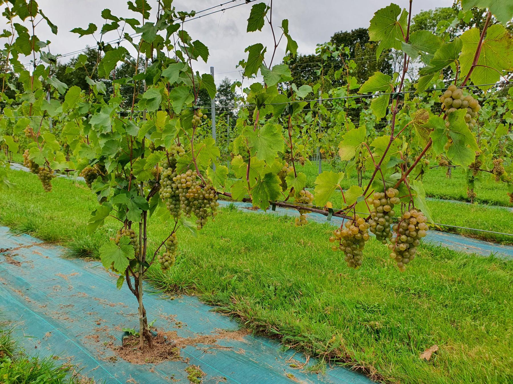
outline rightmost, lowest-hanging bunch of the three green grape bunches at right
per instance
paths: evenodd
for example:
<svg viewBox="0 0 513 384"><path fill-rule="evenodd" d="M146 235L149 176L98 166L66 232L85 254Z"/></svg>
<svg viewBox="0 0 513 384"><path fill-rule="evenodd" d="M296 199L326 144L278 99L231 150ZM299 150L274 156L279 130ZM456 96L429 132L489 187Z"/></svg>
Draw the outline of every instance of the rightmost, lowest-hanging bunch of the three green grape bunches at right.
<svg viewBox="0 0 513 384"><path fill-rule="evenodd" d="M426 236L427 219L417 209L406 210L401 215L401 221L393 226L396 236L388 244L390 259L397 262L401 272L406 270L406 264L415 259L420 239Z"/></svg>

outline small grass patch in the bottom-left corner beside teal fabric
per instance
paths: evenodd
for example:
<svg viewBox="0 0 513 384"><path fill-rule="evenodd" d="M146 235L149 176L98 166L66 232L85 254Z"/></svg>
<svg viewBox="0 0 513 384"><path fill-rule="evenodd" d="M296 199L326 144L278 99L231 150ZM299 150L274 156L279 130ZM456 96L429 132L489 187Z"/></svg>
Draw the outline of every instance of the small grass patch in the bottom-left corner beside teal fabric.
<svg viewBox="0 0 513 384"><path fill-rule="evenodd" d="M77 374L69 364L59 364L51 356L41 358L27 355L18 346L12 329L0 329L0 382L86 384L94 381Z"/></svg>

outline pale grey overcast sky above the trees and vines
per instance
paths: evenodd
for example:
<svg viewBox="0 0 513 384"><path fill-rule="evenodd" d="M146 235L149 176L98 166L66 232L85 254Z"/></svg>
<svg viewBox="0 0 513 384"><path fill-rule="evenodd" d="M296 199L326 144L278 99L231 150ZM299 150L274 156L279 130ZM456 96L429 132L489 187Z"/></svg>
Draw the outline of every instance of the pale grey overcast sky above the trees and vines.
<svg viewBox="0 0 513 384"><path fill-rule="evenodd" d="M177 10L198 12L226 1L228 0L175 0L173 4ZM148 2L152 7L156 7L156 1L148 0ZM96 24L99 31L104 22L101 17L104 8L109 8L116 16L139 18L141 15L129 11L126 3L126 0L38 0L38 4L45 14L57 25L58 34L53 35L44 22L37 26L36 34L41 40L52 41L50 47L53 54L65 54L80 50L86 45L95 46L94 37L88 35L79 39L77 34L69 31L75 27L86 29L88 23ZM244 3L244 0L234 1L224 7L241 3ZM262 32L246 33L246 20L251 6L255 3L243 4L184 24L184 29L189 32L192 39L199 39L210 50L208 63L200 61L194 70L205 73L210 71L210 66L213 66L216 73L215 78L218 81L225 76L230 79L240 78L235 66L239 60L247 58L247 54L244 53L247 46L255 42L262 42L264 46L268 47L268 52L272 51L272 35L268 25ZM394 3L402 8L408 7L408 0L396 0ZM281 25L281 20L288 18L290 34L299 45L298 53L309 54L315 51L315 45L328 41L334 32L360 27L367 28L373 13L389 4L390 2L383 0L274 0L272 20L275 25L275 33L278 34L281 32L278 28ZM413 0L412 14L421 10L450 7L451 5L452 0ZM199 15L224 7L214 8L199 13ZM150 21L154 18L153 13ZM133 33L128 26L127 30L130 31L129 33ZM97 32L95 37L99 38L100 34ZM117 38L116 32L111 31L104 37L104 41L115 38ZM5 39L0 39L0 41L2 40ZM278 49L274 63L279 62L284 55L285 44L283 42ZM2 41L3 44L4 41ZM65 59L63 60L65 61ZM28 62L29 59L21 61Z"/></svg>

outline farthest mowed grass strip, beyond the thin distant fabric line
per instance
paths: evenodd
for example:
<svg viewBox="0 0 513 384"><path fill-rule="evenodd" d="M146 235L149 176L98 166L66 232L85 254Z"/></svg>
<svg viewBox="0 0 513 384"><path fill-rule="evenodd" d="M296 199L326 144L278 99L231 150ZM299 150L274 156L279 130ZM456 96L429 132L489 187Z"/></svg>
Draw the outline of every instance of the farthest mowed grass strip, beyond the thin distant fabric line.
<svg viewBox="0 0 513 384"><path fill-rule="evenodd" d="M322 169L332 170L333 172L340 172L343 169L343 163L338 160L322 161ZM305 163L305 165L296 164L298 172L303 172L306 175L306 184L308 187L315 185L315 178L319 172L319 165L317 161ZM446 168L437 167L429 169L424 175L422 181L426 196L446 200L460 200L470 201L467 196L467 184L464 170L461 167L452 169L451 178L445 176ZM363 184L367 185L372 172L365 172L363 176ZM475 199L478 203L490 205L502 205L511 207L513 204L509 201L507 195L508 189L504 182L495 182L494 177L488 173L482 173L482 181L476 183L474 191L477 194ZM358 185L356 172L346 175L342 180L342 187L349 188L351 185Z"/></svg>

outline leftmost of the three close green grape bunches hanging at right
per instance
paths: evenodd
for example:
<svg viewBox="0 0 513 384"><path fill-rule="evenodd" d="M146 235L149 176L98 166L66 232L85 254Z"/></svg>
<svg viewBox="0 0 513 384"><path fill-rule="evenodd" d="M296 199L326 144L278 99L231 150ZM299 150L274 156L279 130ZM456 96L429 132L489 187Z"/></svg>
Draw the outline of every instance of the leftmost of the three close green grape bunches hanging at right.
<svg viewBox="0 0 513 384"><path fill-rule="evenodd" d="M363 218L355 215L354 218L333 231L333 236L329 238L331 243L339 242L339 245L333 245L332 250L341 250L346 255L345 261L348 267L360 268L362 265L363 248L365 242L369 240L369 223Z"/></svg>

